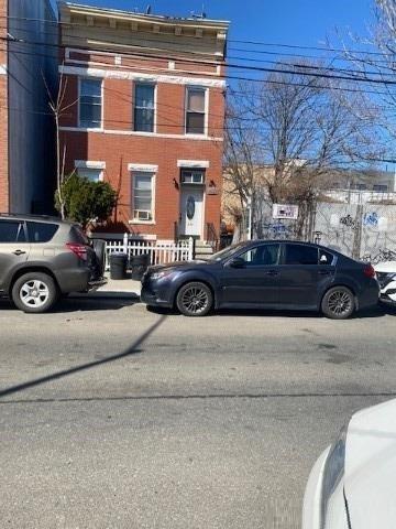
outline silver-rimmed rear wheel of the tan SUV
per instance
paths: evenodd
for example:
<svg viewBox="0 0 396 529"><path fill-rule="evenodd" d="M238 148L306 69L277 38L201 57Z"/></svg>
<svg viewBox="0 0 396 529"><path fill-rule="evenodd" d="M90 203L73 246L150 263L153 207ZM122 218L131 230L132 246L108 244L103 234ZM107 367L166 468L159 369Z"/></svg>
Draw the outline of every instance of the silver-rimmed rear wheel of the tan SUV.
<svg viewBox="0 0 396 529"><path fill-rule="evenodd" d="M11 295L21 311L41 313L48 311L55 304L58 292L51 276L30 272L16 279Z"/></svg>

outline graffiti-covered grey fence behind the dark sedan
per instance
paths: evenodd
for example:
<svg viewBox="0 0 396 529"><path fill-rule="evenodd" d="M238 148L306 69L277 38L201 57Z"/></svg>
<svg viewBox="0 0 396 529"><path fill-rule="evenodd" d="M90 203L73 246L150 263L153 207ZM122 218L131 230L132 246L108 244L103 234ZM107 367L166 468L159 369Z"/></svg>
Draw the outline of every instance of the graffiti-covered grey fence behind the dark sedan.
<svg viewBox="0 0 396 529"><path fill-rule="evenodd" d="M298 223L273 219L271 206L263 203L252 235L262 239L298 238L372 262L388 260L396 252L396 205L317 203L304 223Z"/></svg>

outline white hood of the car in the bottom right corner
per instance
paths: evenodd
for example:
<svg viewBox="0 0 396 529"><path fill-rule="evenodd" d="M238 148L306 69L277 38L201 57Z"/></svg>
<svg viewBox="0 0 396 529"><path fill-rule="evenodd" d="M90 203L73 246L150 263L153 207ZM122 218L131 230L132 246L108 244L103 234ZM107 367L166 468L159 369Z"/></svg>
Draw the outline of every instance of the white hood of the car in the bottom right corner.
<svg viewBox="0 0 396 529"><path fill-rule="evenodd" d="M344 490L352 529L396 527L396 399L352 417Z"/></svg>

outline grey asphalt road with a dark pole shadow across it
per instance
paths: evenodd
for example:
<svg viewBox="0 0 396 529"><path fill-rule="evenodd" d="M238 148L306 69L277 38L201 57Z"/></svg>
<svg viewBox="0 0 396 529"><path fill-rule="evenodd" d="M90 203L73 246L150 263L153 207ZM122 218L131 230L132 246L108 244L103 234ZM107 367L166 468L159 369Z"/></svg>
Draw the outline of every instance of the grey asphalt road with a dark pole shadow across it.
<svg viewBox="0 0 396 529"><path fill-rule="evenodd" d="M316 457L396 397L395 316L0 301L1 527L300 527Z"/></svg>

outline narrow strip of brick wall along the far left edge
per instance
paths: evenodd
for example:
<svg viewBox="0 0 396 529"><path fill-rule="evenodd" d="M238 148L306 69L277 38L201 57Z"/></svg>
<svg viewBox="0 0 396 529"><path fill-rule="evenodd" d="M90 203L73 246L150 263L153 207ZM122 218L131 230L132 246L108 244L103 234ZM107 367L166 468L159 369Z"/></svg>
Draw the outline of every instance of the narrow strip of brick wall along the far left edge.
<svg viewBox="0 0 396 529"><path fill-rule="evenodd" d="M0 0L0 36L7 35L7 0ZM0 66L7 64L7 43L0 41ZM0 74L0 212L9 210L7 76Z"/></svg>

